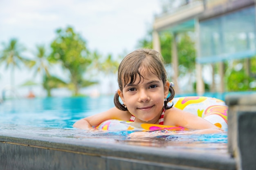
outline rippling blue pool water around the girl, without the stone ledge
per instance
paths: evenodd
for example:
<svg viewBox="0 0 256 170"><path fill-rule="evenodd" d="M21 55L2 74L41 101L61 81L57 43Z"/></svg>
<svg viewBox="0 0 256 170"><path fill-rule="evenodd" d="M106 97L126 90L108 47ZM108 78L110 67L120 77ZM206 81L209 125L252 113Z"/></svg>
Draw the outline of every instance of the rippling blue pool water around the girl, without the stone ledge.
<svg viewBox="0 0 256 170"><path fill-rule="evenodd" d="M166 147L192 152L227 153L227 130L218 134L184 135L166 132L132 139L133 131L90 131L73 128L79 119L114 107L113 96L52 97L12 99L0 104L0 131L2 134L25 134L42 137L126 145Z"/></svg>

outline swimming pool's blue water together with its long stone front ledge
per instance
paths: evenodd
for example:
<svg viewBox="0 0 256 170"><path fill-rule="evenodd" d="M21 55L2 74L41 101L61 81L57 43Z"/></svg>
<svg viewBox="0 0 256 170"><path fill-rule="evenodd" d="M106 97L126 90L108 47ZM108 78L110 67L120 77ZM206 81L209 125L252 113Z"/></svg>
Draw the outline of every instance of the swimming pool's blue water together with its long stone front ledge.
<svg viewBox="0 0 256 170"><path fill-rule="evenodd" d="M78 119L113 106L113 96L4 101L0 104L0 152L4 153L0 155L1 167L234 169L235 161L227 151L227 130L211 135L171 134L130 139L127 131L95 132L72 127Z"/></svg>

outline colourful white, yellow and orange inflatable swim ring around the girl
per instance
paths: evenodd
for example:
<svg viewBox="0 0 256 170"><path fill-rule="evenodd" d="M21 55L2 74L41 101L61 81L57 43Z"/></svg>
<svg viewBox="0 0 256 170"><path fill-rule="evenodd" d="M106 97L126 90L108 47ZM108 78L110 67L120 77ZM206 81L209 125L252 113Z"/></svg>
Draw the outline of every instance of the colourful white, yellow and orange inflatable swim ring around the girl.
<svg viewBox="0 0 256 170"><path fill-rule="evenodd" d="M227 110L225 102L213 97L189 96L173 98L173 106L181 110L198 115L218 126L219 128L227 128ZM172 104L169 102L168 104ZM122 120L106 120L96 127L99 130L186 130L177 126L165 126L157 124L143 124Z"/></svg>

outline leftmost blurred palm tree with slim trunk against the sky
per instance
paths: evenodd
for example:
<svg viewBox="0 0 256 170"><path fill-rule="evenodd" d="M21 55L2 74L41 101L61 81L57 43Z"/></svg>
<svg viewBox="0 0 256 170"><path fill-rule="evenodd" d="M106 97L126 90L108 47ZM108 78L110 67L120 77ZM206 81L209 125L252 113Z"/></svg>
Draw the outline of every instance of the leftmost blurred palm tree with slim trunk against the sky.
<svg viewBox="0 0 256 170"><path fill-rule="evenodd" d="M0 64L6 64L6 69L11 67L11 86L14 86L14 69L20 67L20 63L28 64L29 60L21 56L21 53L25 51L25 47L22 44L18 44L18 40L13 38L9 44L2 43L4 49L0 55Z"/></svg>

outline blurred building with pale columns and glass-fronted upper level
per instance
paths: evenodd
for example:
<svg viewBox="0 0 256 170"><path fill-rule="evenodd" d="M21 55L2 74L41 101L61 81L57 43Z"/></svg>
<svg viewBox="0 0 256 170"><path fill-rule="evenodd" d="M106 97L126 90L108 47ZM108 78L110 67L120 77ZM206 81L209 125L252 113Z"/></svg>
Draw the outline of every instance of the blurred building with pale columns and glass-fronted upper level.
<svg viewBox="0 0 256 170"><path fill-rule="evenodd" d="M194 31L196 35L196 77L197 93L204 93L202 66L218 64L220 86L223 93L224 64L231 59L246 59L245 68L250 68L250 58L256 55L256 24L254 0L186 0L179 7L155 18L153 24L153 48L161 51L159 34L168 31L173 34L172 62L178 77L176 36L184 31ZM213 75L214 73L213 68ZM249 72L249 70L248 70ZM213 79L214 76L212 76ZM213 79L212 88L214 88ZM177 83L177 82L176 82Z"/></svg>

